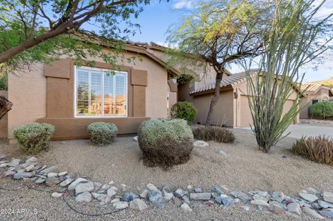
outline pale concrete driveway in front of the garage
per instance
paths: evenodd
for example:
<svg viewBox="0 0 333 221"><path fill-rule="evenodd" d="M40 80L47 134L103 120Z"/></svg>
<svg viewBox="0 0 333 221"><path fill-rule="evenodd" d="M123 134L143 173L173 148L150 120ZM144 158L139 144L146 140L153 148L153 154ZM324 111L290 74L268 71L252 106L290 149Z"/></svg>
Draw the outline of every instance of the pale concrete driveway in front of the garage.
<svg viewBox="0 0 333 221"><path fill-rule="evenodd" d="M242 129L250 130L250 127L242 127ZM331 136L333 138L333 127L323 127L319 125L306 125L297 124L290 125L284 134L290 134L288 136L293 138L301 138L302 136Z"/></svg>

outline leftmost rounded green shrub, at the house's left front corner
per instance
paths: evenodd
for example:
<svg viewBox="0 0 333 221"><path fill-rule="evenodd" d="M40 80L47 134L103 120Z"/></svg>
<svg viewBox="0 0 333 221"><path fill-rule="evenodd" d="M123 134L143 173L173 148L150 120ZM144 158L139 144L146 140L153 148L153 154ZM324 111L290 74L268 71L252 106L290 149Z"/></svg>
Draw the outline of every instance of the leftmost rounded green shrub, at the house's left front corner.
<svg viewBox="0 0 333 221"><path fill-rule="evenodd" d="M49 148L54 130L54 126L48 123L28 123L15 128L14 136L24 152L35 154Z"/></svg>

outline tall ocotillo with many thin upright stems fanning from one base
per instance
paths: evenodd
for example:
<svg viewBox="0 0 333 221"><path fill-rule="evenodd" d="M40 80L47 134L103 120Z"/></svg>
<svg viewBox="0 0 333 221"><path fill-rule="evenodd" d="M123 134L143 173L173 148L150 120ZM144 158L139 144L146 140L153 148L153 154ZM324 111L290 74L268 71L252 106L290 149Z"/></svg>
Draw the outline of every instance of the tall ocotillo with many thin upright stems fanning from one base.
<svg viewBox="0 0 333 221"><path fill-rule="evenodd" d="M302 109L300 94L289 111L283 109L291 97L293 88L302 83L304 74L300 67L321 58L330 49L332 21L318 17L315 0L274 0L273 20L264 37L264 53L255 61L259 63L259 73L253 78L248 75L248 96L253 118L252 130L259 149L268 152L273 145L283 139L287 127L295 120ZM287 135L286 135L287 136Z"/></svg>

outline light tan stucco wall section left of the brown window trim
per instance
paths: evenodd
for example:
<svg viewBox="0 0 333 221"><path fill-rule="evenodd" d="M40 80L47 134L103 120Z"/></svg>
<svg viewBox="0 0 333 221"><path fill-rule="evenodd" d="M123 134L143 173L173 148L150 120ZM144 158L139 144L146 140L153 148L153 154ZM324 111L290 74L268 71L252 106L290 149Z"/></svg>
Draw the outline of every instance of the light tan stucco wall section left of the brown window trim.
<svg viewBox="0 0 333 221"><path fill-rule="evenodd" d="M46 116L44 64L31 66L31 71L9 74L8 100L13 103L8 112L8 139L12 139L15 127Z"/></svg>

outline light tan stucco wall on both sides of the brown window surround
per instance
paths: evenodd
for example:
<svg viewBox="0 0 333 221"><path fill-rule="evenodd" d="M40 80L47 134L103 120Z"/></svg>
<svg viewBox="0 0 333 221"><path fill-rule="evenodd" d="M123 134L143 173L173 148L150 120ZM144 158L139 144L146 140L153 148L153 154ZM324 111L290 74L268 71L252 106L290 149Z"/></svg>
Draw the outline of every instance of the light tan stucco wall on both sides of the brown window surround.
<svg viewBox="0 0 333 221"><path fill-rule="evenodd" d="M137 54L126 53L125 57L135 55ZM103 62L100 58L96 58L96 61ZM145 55L142 55L142 62L136 60L135 65L129 64L126 59L124 62L119 59L118 64L147 71L146 117L167 118L167 71ZM44 64L35 64L31 67L31 71L10 74L8 88L8 98L14 104L8 114L8 138L12 139L12 131L15 127L46 117Z"/></svg>

